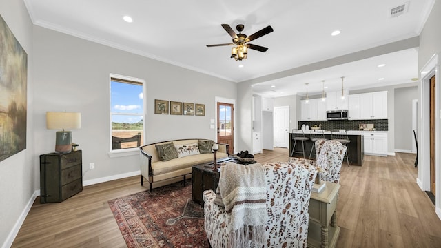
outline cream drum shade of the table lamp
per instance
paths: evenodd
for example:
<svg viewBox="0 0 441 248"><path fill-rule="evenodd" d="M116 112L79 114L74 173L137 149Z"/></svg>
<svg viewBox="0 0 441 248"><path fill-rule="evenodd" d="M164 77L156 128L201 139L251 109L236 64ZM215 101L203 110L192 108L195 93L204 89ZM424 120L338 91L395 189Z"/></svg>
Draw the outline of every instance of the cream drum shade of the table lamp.
<svg viewBox="0 0 441 248"><path fill-rule="evenodd" d="M46 128L52 130L81 128L81 113L46 112Z"/></svg>

